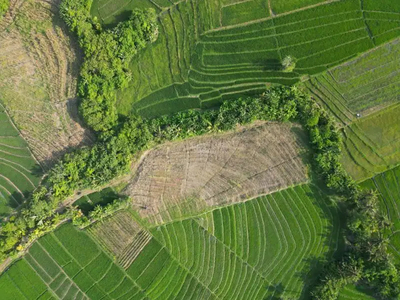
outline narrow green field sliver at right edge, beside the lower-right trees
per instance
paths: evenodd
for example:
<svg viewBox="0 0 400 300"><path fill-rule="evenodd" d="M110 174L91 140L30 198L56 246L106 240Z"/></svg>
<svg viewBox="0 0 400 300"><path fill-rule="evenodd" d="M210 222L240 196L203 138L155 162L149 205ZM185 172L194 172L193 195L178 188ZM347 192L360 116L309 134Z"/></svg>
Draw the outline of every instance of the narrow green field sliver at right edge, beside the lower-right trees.
<svg viewBox="0 0 400 300"><path fill-rule="evenodd" d="M390 252L400 263L400 167L374 176L361 183L364 189L376 190L379 195L381 211L392 223Z"/></svg>

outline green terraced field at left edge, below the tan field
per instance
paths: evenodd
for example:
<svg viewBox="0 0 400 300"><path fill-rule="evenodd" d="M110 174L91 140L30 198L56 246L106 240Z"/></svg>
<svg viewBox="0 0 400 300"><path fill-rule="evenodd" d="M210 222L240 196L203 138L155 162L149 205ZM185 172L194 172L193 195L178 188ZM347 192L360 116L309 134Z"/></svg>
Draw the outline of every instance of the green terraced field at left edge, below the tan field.
<svg viewBox="0 0 400 300"><path fill-rule="evenodd" d="M0 220L39 184L42 169L0 104Z"/></svg>

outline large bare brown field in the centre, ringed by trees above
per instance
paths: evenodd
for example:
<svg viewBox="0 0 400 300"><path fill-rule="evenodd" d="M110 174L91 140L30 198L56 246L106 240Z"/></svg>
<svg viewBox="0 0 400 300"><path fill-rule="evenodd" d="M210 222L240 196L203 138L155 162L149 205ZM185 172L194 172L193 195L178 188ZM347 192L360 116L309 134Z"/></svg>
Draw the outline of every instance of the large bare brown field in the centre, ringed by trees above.
<svg viewBox="0 0 400 300"><path fill-rule="evenodd" d="M268 123L162 145L148 152L123 193L161 224L307 181L299 126Z"/></svg>

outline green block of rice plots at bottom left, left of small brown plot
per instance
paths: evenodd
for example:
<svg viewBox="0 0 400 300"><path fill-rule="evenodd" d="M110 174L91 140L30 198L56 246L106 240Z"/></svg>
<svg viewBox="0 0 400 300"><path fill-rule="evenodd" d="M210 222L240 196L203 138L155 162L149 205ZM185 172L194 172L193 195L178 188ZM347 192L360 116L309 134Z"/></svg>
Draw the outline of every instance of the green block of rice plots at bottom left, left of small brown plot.
<svg viewBox="0 0 400 300"><path fill-rule="evenodd" d="M144 299L127 274L70 224L41 238L25 259L60 299Z"/></svg>

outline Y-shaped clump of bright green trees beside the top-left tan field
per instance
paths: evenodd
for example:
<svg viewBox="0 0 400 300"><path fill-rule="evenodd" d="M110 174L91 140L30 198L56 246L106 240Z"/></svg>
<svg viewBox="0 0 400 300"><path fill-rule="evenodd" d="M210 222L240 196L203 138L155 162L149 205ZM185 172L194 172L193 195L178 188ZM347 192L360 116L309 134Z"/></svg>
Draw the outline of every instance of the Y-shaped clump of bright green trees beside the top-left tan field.
<svg viewBox="0 0 400 300"><path fill-rule="evenodd" d="M80 113L95 131L117 125L116 90L126 88L132 75L129 63L138 50L157 39L158 27L153 9L134 10L130 18L104 30L90 15L92 1L64 0L61 16L79 38L85 60L80 72L78 95Z"/></svg>

